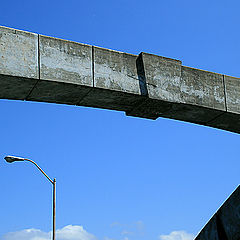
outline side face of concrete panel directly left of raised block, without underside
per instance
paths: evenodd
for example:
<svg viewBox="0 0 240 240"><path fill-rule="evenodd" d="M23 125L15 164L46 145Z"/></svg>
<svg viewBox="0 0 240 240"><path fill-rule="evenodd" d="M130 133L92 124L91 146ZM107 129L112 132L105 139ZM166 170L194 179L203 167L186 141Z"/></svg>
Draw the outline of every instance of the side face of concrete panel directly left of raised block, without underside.
<svg viewBox="0 0 240 240"><path fill-rule="evenodd" d="M136 55L94 47L94 87L141 94Z"/></svg>

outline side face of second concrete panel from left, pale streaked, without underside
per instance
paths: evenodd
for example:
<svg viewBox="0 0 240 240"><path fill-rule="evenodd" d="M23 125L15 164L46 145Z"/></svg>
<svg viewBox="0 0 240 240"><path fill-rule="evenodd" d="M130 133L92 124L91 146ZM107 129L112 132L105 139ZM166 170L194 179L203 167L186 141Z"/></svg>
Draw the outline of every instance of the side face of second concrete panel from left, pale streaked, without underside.
<svg viewBox="0 0 240 240"><path fill-rule="evenodd" d="M40 78L93 87L92 47L40 35Z"/></svg>

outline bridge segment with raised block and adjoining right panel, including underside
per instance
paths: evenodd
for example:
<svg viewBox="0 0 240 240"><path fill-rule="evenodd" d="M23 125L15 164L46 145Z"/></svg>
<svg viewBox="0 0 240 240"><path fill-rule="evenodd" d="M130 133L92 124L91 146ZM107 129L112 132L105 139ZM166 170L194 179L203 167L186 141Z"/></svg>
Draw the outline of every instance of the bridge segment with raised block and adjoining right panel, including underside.
<svg viewBox="0 0 240 240"><path fill-rule="evenodd" d="M149 98L127 115L178 119L207 125L225 112L223 76L141 54ZM158 101L156 101L158 100Z"/></svg>

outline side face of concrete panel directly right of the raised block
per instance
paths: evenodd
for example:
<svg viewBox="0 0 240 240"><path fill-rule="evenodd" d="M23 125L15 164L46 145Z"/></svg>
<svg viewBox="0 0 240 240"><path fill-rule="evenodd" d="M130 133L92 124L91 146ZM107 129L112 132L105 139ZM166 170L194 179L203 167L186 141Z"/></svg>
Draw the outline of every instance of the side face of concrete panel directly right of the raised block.
<svg viewBox="0 0 240 240"><path fill-rule="evenodd" d="M223 75L182 66L181 102L225 110Z"/></svg>

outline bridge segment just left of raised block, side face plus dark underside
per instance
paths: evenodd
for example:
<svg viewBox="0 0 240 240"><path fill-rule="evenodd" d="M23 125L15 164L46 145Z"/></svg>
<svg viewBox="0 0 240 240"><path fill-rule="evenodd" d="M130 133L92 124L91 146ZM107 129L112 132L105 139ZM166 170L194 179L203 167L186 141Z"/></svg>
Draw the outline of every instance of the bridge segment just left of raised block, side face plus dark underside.
<svg viewBox="0 0 240 240"><path fill-rule="evenodd" d="M139 104L137 56L104 48L93 48L94 88L79 105L128 111Z"/></svg>

